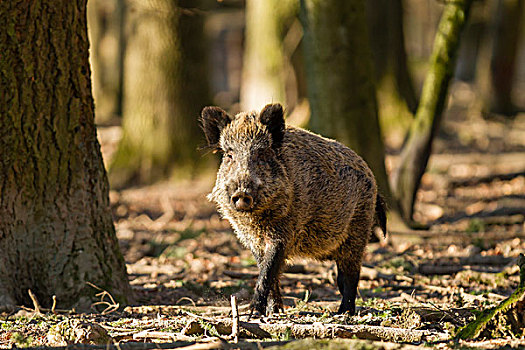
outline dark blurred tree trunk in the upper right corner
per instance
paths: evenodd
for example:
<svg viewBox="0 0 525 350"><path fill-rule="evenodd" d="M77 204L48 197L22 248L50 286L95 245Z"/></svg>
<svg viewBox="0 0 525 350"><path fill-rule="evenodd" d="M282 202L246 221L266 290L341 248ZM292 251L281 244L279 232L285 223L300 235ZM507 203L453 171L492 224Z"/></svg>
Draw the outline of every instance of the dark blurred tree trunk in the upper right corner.
<svg viewBox="0 0 525 350"><path fill-rule="evenodd" d="M498 0L489 21L478 73L483 112L514 115L512 87L523 19L523 0Z"/></svg>

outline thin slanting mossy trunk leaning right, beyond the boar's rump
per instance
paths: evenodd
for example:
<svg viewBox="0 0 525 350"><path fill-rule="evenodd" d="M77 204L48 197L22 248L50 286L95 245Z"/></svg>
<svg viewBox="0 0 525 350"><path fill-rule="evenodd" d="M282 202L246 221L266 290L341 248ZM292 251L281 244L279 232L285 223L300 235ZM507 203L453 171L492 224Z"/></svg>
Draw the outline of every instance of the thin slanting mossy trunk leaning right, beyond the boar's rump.
<svg viewBox="0 0 525 350"><path fill-rule="evenodd" d="M416 193L430 157L432 140L441 123L461 30L471 4L472 0L455 0L445 5L416 118L401 152L399 167L392 175L392 192L406 222L412 222Z"/></svg>

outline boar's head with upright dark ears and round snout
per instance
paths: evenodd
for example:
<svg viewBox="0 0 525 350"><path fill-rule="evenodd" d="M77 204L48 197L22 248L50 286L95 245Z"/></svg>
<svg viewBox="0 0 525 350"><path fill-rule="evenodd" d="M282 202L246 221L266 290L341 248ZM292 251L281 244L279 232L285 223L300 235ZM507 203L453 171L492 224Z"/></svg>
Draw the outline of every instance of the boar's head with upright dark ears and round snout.
<svg viewBox="0 0 525 350"><path fill-rule="evenodd" d="M206 107L201 123L208 146L223 154L210 194L223 215L285 212L291 186L282 157L282 106L267 105L260 113L235 117L218 107Z"/></svg>

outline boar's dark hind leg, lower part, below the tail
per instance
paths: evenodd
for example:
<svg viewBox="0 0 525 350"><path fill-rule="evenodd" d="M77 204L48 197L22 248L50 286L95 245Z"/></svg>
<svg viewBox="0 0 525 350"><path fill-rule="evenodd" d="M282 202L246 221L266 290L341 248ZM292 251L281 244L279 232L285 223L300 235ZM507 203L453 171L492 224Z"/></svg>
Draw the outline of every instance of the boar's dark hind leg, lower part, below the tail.
<svg viewBox="0 0 525 350"><path fill-rule="evenodd" d="M354 266L349 261L337 261L337 287L343 296L338 314L348 312L355 314L355 298L359 283L360 266Z"/></svg>

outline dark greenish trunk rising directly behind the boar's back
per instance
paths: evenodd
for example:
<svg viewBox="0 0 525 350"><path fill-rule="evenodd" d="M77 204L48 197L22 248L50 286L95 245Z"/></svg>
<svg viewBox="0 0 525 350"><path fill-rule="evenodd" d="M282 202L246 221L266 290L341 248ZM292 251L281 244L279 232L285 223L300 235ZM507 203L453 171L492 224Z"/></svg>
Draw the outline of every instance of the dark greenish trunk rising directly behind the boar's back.
<svg viewBox="0 0 525 350"><path fill-rule="evenodd" d="M388 194L370 43L361 0L301 0L310 127L370 165Z"/></svg>

